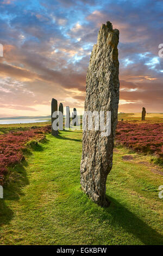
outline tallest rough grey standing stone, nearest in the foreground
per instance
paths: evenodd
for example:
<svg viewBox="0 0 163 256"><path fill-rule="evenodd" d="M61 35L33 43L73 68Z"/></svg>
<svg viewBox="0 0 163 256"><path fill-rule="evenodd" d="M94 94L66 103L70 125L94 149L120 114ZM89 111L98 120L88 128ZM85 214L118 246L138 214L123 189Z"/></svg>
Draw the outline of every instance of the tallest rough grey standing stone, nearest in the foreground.
<svg viewBox="0 0 163 256"><path fill-rule="evenodd" d="M110 136L101 131L83 131L80 183L83 191L98 205L108 206L106 179L112 168L115 129L119 101L118 29L108 21L98 33L86 76L85 111L111 111ZM105 112L106 113L106 112Z"/></svg>

